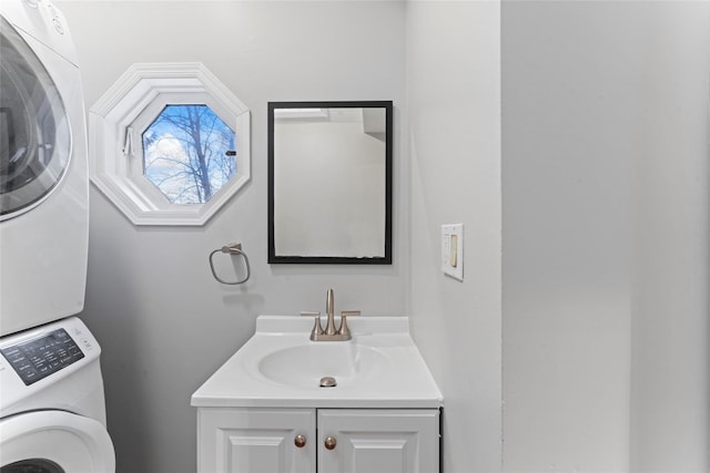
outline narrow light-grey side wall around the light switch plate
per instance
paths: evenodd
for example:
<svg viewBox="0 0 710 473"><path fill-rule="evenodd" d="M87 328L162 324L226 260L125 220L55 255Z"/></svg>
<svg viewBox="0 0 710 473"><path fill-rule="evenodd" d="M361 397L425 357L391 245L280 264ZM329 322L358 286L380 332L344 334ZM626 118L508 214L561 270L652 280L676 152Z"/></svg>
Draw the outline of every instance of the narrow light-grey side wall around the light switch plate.
<svg viewBox="0 0 710 473"><path fill-rule="evenodd" d="M444 471L500 470L500 3L407 3L414 337L444 393ZM464 281L440 225L464 223Z"/></svg>

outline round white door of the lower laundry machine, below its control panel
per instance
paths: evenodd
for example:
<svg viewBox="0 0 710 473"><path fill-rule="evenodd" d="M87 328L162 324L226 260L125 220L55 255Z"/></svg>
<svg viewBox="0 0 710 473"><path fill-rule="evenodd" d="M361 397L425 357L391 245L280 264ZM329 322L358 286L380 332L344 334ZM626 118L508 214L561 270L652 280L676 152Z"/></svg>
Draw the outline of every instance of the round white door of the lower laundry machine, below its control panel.
<svg viewBox="0 0 710 473"><path fill-rule="evenodd" d="M1 473L115 471L103 424L64 411L33 411L0 421Z"/></svg>

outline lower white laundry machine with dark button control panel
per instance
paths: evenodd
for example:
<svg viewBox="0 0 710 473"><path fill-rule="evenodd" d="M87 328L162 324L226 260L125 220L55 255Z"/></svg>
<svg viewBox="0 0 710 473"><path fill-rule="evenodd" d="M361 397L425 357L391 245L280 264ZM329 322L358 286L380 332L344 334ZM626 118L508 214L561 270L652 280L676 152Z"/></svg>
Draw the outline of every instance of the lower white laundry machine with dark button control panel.
<svg viewBox="0 0 710 473"><path fill-rule="evenodd" d="M75 317L0 340L0 471L111 473L101 348Z"/></svg>

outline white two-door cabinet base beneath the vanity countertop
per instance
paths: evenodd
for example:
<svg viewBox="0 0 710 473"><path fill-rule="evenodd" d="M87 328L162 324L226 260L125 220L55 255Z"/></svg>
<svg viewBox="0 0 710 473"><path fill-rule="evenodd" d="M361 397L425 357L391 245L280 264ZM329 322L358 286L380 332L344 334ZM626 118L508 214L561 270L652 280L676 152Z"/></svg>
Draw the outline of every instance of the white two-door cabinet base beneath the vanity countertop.
<svg viewBox="0 0 710 473"><path fill-rule="evenodd" d="M201 473L436 473L438 409L197 409Z"/></svg>

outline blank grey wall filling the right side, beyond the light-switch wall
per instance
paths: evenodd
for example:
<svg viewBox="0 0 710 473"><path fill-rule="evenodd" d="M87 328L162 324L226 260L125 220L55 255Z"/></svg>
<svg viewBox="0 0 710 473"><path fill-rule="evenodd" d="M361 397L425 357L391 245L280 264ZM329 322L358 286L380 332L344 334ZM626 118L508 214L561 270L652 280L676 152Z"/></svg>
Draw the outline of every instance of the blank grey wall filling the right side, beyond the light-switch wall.
<svg viewBox="0 0 710 473"><path fill-rule="evenodd" d="M710 3L504 2L504 470L708 470Z"/></svg>

